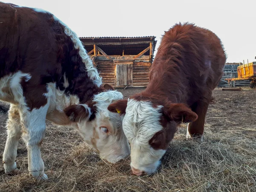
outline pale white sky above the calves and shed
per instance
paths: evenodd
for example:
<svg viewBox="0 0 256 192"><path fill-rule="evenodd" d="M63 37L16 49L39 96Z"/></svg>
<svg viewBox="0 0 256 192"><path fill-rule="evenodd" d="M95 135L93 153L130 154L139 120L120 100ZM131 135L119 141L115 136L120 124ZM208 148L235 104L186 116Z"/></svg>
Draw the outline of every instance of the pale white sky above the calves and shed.
<svg viewBox="0 0 256 192"><path fill-rule="evenodd" d="M256 0L4 0L54 14L79 37L161 35L191 22L214 32L227 62L256 61ZM167 3L168 2L168 3ZM157 50L156 47L156 50Z"/></svg>

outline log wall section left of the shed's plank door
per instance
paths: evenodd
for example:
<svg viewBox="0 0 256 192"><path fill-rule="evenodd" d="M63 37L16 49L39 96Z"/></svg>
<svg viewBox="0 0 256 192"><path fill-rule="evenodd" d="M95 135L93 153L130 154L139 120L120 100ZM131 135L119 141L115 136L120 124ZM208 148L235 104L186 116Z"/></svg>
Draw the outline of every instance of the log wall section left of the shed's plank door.
<svg viewBox="0 0 256 192"><path fill-rule="evenodd" d="M99 61L97 69L102 76L102 82L115 85L115 65L113 60Z"/></svg>

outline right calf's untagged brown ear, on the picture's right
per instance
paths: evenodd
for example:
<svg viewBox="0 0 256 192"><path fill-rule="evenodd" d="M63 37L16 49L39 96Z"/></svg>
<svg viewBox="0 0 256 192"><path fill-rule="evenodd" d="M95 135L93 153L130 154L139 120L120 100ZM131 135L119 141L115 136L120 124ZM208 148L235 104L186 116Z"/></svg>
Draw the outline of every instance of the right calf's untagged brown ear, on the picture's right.
<svg viewBox="0 0 256 192"><path fill-rule="evenodd" d="M167 110L163 110L172 121L176 122L194 122L198 115L182 103L171 104Z"/></svg>

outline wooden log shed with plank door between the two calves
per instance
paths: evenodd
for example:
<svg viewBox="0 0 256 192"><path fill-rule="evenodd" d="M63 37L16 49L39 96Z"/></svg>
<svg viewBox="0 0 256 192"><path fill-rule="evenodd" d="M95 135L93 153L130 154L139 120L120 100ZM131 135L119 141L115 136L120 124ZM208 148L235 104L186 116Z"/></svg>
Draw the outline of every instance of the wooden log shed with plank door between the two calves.
<svg viewBox="0 0 256 192"><path fill-rule="evenodd" d="M157 41L148 37L82 37L102 76L114 87L146 87Z"/></svg>

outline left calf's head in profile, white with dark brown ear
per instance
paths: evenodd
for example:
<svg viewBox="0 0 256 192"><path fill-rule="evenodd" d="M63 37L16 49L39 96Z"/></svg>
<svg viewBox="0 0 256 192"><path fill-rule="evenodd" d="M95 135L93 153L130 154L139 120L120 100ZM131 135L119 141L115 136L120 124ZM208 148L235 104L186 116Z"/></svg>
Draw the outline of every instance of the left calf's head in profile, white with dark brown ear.
<svg viewBox="0 0 256 192"><path fill-rule="evenodd" d="M65 109L84 141L110 163L130 154L128 140L122 130L123 116L108 111L108 105L122 97L122 93L109 90L95 95L90 107L80 104Z"/></svg>

